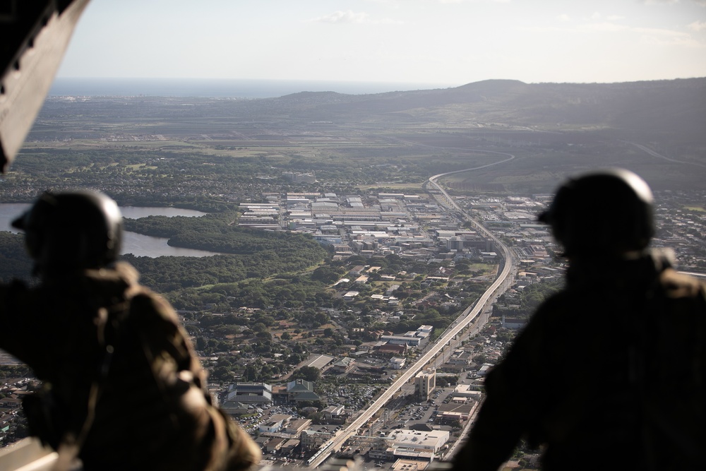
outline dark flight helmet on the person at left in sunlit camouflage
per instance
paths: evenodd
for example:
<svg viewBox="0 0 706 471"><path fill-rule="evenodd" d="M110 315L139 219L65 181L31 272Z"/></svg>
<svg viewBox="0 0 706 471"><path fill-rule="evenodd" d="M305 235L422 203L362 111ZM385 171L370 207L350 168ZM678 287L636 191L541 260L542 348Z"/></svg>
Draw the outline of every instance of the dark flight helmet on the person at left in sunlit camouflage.
<svg viewBox="0 0 706 471"><path fill-rule="evenodd" d="M100 268L120 254L123 218L98 191L45 192L12 222L41 274Z"/></svg>

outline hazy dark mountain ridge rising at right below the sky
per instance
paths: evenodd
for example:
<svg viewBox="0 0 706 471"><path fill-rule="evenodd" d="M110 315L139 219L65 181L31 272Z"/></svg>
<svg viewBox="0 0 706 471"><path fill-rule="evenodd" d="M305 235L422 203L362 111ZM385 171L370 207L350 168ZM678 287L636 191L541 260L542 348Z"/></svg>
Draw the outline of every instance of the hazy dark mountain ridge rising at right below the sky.
<svg viewBox="0 0 706 471"><path fill-rule="evenodd" d="M388 124L439 121L535 130L611 130L706 144L706 78L629 83L489 80L457 88L345 95L302 92L270 98L270 112Z"/></svg>

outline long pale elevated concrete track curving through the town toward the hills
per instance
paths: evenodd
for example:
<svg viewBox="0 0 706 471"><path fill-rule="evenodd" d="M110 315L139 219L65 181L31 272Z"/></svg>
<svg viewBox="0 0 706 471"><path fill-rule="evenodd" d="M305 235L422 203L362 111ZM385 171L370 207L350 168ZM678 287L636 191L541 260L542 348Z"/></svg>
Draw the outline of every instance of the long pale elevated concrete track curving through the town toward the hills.
<svg viewBox="0 0 706 471"><path fill-rule="evenodd" d="M513 158L515 158L513 155L510 154L505 155L510 156L510 158L489 165L497 165L502 162L508 162L508 160L513 160ZM475 167L474 169L488 167L489 165ZM478 301L472 304L471 306L468 306L462 312L462 314L460 314L457 320L451 326L449 326L445 330L445 332L436 340L436 342L433 345L430 345L426 352L424 352L424 354L422 354L421 357L417 359L417 362L414 362L414 364L409 366L406 370L401 371L395 382L392 383L387 390L383 391L383 393L381 393L381 395L379 395L378 398L376 398L376 400L374 400L373 403L369 405L369 407L364 410L361 410L361 412L359 412L359 415L357 415L357 417L353 419L353 421L348 425L348 427L338 431L332 439L326 441L321 446L321 448L319 448L315 455L309 458L309 460L306 462L306 465L308 467L318 467L332 453L340 451L343 443L345 443L347 439L349 439L352 435L358 434L359 429L364 427L364 425L366 425L366 423L374 415L376 415L378 410L383 408L385 404L387 404L388 401L393 398L393 395L397 393L397 391L400 390L400 388L402 388L405 383L407 383L407 381L412 380L414 376L419 373L419 371L423 370L430 362L433 362L436 359L436 354L441 352L445 345L452 345L452 340L455 339L456 335L461 333L461 331L467 326L469 326L470 323L479 318L479 314L483 312L486 307L486 304L489 304L489 302L494 299L494 296L498 292L504 290L504 288L507 287L510 282L512 282L513 276L511 275L513 275L515 266L517 264L517 258L515 257L513 252L510 251L510 249L508 249L508 247L505 246L505 244L503 244L500 239L491 234L491 232L485 227L483 227L477 220L473 220L471 217L465 214L463 210L455 203L455 201L450 198L448 193L446 193L446 191L439 184L436 183L436 179L438 179L439 177L443 177L444 175L453 174L457 172L466 172L468 170L473 169L457 170L456 172L448 172L446 174L434 175L429 179L429 184L431 184L436 189L438 189L438 191L441 192L447 205L457 210L467 220L472 221L476 229L478 229L486 237L489 237L493 240L493 242L495 242L496 247L498 247L503 254L503 268L501 272L498 274L498 277L488 288L488 290L486 290L486 292L481 295Z"/></svg>

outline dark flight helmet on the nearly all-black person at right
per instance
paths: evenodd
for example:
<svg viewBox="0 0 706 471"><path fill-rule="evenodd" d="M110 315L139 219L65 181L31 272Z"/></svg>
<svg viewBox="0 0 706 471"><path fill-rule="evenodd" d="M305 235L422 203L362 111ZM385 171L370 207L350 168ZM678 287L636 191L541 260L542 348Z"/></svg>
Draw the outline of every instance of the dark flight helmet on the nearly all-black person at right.
<svg viewBox="0 0 706 471"><path fill-rule="evenodd" d="M539 221L569 258L621 257L642 251L654 234L652 191L626 169L568 179Z"/></svg>

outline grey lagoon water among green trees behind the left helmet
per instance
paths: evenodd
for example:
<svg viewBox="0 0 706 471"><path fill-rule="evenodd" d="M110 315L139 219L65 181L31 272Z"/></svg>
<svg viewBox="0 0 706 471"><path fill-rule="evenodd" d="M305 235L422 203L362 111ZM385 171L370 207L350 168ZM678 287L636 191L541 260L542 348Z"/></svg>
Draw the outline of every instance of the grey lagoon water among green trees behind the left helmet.
<svg viewBox="0 0 706 471"><path fill-rule="evenodd" d="M0 203L0 231L18 232L11 226L12 220L24 213L30 207L29 203ZM187 216L198 217L205 213L201 211L179 209L179 208L142 208L136 206L126 206L120 208L124 217L138 219L146 216ZM150 237L135 232L124 232L123 250L121 254L133 254L135 256L159 257L159 256L181 256L181 257L205 257L217 255L214 252L194 249L181 249L167 245L167 239L162 237Z"/></svg>

